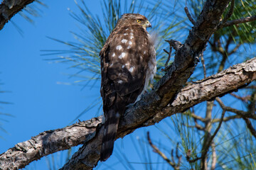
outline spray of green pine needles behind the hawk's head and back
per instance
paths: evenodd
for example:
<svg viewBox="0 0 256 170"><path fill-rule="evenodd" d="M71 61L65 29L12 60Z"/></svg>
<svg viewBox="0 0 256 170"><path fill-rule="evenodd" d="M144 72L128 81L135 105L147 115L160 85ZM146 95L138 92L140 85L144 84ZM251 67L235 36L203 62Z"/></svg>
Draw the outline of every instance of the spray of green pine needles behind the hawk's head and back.
<svg viewBox="0 0 256 170"><path fill-rule="evenodd" d="M161 74L161 68L164 66L167 55L164 54L164 47L168 47L167 43L163 40L176 38L181 36L182 33L177 33L182 27L178 27L183 18L178 18L174 16L174 12L170 12L169 6L163 1L151 1L150 3L145 1L111 1L105 0L102 2L102 15L93 15L91 11L87 8L85 1L81 1L77 4L80 14L74 11L70 11L71 16L75 18L82 28L80 33L71 32L74 35L76 42L65 42L63 40L56 40L70 47L70 50L48 50L47 55L56 54L68 54L61 56L63 60L58 60L58 62L70 62L71 67L79 69L78 73L73 75L75 77L80 77L82 72L89 72L90 77L84 77L77 82L91 81L100 79L100 57L99 53L108 35L110 35L118 18L122 16L123 13L142 13L149 21L151 21L154 32L149 30L156 37L156 56L158 62L159 74ZM100 17L101 16L101 17ZM103 19L101 19L103 18ZM176 28L175 28L176 27ZM174 34L175 33L175 34ZM161 37L161 40L159 39Z"/></svg>

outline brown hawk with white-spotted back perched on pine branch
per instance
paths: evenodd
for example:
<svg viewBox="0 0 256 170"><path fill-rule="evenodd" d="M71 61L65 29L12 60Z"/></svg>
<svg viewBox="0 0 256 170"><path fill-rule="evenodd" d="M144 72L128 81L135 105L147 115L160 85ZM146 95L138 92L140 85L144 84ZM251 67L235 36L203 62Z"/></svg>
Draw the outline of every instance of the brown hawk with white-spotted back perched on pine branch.
<svg viewBox="0 0 256 170"><path fill-rule="evenodd" d="M139 101L156 73L156 51L139 13L124 13L100 51L101 88L105 115L100 161L113 152L119 118L127 105Z"/></svg>

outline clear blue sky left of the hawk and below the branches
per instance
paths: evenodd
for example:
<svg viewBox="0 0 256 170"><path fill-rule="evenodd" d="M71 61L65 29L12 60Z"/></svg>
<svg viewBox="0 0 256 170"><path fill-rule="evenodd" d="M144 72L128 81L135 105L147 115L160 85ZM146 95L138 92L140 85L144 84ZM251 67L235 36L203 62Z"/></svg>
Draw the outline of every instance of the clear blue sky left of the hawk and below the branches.
<svg viewBox="0 0 256 170"><path fill-rule="evenodd" d="M14 147L18 142L29 140L40 132L69 125L92 100L100 96L100 84L96 84L92 89L58 84L58 82L73 83L77 79L69 79L66 74L73 74L77 70L68 69L69 64L46 61L56 56L42 56L45 52L41 50L68 50L66 45L50 40L47 36L73 41L70 31L79 32L78 22L70 16L68 8L73 11L78 8L74 1L44 2L48 8L40 7L43 11L41 17L33 18L33 24L28 23L18 14L11 18L11 21L23 30L22 35L11 22L0 31L0 80L4 83L0 88L3 91L11 91L1 94L0 101L13 103L1 105L0 108L0 112L13 115L13 117L1 117L8 122L1 121L6 132L0 131L2 137L0 153ZM87 6L90 11L98 13L100 0L90 1ZM90 119L95 116L95 113L97 108L82 115L80 120ZM137 130L134 136L142 137L145 133L145 130ZM132 161L138 162L130 137L124 137L124 139L127 139L126 142L119 140L115 149L125 149L126 154L134 154ZM55 162L59 168L62 166L62 161L58 159L62 157L65 156L55 154ZM114 154L106 164L114 164L113 168L123 169L123 166L117 164L117 157ZM51 159L51 156L48 158ZM46 159L33 162L26 169L48 169Z"/></svg>

